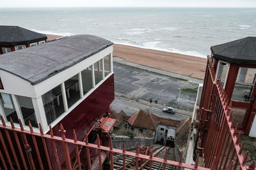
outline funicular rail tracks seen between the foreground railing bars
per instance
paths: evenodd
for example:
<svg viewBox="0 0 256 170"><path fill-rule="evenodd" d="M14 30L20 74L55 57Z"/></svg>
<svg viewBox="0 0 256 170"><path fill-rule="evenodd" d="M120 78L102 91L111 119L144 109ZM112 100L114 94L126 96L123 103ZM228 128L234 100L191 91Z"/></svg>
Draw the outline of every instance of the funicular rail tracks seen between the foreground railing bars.
<svg viewBox="0 0 256 170"><path fill-rule="evenodd" d="M153 156L164 159L164 153L166 152L166 148L168 149L167 159L174 159L174 148L163 146L163 145L153 145ZM129 150L130 152L136 152L136 149ZM114 169L119 170L123 169L123 155L116 153L114 155ZM127 156L125 157L125 169L135 169L136 167L136 159L135 157ZM149 163L147 160L144 160L143 163L139 163L139 169L149 169ZM160 170L163 169L163 163L160 162L152 162L152 170ZM174 169L173 166L166 165L166 169Z"/></svg>

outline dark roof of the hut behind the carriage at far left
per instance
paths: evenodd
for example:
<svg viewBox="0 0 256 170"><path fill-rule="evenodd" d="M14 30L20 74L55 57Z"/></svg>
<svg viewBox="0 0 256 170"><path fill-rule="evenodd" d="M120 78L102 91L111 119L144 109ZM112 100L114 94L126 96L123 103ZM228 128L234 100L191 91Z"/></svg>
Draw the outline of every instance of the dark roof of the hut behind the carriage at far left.
<svg viewBox="0 0 256 170"><path fill-rule="evenodd" d="M1 45L24 45L47 39L45 34L30 31L19 26L0 25Z"/></svg>

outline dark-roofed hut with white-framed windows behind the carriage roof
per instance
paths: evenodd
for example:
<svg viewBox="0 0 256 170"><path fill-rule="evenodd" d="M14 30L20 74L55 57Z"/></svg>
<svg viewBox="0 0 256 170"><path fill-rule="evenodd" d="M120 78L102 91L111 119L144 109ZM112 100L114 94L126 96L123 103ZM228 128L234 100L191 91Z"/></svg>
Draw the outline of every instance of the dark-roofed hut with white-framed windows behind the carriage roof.
<svg viewBox="0 0 256 170"><path fill-rule="evenodd" d="M19 26L0 25L0 54L47 42L47 36Z"/></svg>

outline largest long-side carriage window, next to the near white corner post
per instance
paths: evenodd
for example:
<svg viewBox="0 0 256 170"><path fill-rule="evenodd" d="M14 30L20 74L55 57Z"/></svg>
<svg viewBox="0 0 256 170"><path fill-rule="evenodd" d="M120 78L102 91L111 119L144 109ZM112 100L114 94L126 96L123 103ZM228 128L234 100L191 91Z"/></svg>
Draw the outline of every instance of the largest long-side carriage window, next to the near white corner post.
<svg viewBox="0 0 256 170"><path fill-rule="evenodd" d="M64 104L61 93L61 85L45 93L42 96L47 124L50 125L62 113L64 113Z"/></svg>

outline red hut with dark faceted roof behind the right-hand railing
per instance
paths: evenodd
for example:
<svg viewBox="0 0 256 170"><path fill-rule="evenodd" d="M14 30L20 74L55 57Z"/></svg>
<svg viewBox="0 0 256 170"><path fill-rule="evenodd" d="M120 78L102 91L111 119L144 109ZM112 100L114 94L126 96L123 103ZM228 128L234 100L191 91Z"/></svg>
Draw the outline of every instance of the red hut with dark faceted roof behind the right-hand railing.
<svg viewBox="0 0 256 170"><path fill-rule="evenodd" d="M241 132L256 136L256 37L211 46L211 52L215 80L220 78L228 101L232 101L235 123ZM207 108L211 98L211 89L207 88L207 81L211 77L210 74L205 75L204 99L200 108Z"/></svg>

